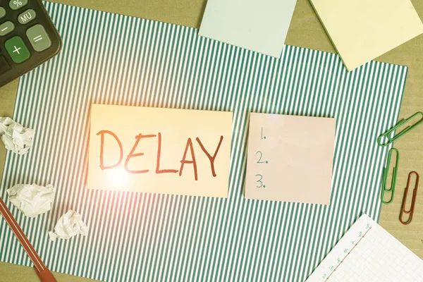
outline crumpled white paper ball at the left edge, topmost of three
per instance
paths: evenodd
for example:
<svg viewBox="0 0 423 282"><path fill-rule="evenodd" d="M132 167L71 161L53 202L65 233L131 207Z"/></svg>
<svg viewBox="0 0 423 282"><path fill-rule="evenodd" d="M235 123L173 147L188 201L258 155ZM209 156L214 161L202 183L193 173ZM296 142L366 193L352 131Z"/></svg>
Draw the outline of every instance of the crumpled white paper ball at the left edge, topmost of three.
<svg viewBox="0 0 423 282"><path fill-rule="evenodd" d="M27 154L32 147L35 131L24 128L11 118L0 117L0 135L6 149L16 154Z"/></svg>

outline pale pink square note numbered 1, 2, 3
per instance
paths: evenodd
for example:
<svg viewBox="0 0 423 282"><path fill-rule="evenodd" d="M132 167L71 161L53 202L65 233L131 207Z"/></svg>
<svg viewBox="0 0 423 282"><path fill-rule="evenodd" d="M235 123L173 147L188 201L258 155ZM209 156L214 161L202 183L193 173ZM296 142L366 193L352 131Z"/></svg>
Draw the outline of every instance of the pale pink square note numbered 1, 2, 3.
<svg viewBox="0 0 423 282"><path fill-rule="evenodd" d="M334 118L250 114L245 198L330 204Z"/></svg>

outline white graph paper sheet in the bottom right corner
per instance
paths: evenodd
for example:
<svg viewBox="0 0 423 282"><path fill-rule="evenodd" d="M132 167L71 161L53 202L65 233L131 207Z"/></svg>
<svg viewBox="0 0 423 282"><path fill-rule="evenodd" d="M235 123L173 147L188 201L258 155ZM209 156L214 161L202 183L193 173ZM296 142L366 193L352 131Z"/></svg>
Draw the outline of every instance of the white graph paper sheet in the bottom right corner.
<svg viewBox="0 0 423 282"><path fill-rule="evenodd" d="M306 282L422 282L423 260L366 214Z"/></svg>

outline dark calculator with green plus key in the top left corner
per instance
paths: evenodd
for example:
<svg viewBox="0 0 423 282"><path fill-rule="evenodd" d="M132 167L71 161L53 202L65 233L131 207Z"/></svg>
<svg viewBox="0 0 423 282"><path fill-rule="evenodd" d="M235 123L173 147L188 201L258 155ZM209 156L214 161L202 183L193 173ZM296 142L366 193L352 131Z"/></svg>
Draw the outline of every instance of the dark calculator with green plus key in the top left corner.
<svg viewBox="0 0 423 282"><path fill-rule="evenodd" d="M0 87L51 59L61 45L41 0L0 0Z"/></svg>

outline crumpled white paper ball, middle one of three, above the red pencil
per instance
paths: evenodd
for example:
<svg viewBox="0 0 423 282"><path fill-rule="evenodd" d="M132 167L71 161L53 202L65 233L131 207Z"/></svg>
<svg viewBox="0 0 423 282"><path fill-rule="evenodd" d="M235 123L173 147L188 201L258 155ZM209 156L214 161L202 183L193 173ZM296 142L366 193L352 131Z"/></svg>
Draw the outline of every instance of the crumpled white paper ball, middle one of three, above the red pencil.
<svg viewBox="0 0 423 282"><path fill-rule="evenodd" d="M56 188L53 185L46 187L36 184L18 184L6 190L9 200L25 216L35 217L44 212L49 212L54 201Z"/></svg>

